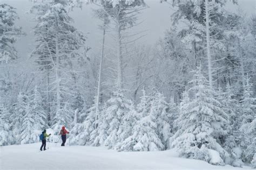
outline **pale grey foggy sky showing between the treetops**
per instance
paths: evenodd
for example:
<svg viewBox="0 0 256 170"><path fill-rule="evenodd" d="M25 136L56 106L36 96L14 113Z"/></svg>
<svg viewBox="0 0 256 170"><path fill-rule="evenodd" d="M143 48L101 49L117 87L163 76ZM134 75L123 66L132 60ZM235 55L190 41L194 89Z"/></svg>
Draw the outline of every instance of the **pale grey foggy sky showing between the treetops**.
<svg viewBox="0 0 256 170"><path fill-rule="evenodd" d="M35 26L33 16L26 13L30 10L32 3L29 0L0 0L0 3L7 3L17 9L19 20L17 26L22 26L26 36L22 36L16 43L19 60L29 60L28 56L33 49L35 37L33 37L32 28ZM147 30L147 36L139 40L141 44L153 45L164 36L164 32L171 27L170 16L174 9L171 5L163 3L160 4L159 0L146 0L147 8L143 11L140 17L144 22L140 24L136 30ZM247 16L251 16L256 10L256 0L239 0L239 5L233 5L228 2L226 9L235 12L238 8L244 10ZM100 33L98 24L100 21L92 17L92 8L97 8L96 5L84 5L83 9L75 9L71 12L71 17L75 20L73 24L78 30L84 32L87 37L86 45L90 46L92 51L98 48L100 42Z"/></svg>

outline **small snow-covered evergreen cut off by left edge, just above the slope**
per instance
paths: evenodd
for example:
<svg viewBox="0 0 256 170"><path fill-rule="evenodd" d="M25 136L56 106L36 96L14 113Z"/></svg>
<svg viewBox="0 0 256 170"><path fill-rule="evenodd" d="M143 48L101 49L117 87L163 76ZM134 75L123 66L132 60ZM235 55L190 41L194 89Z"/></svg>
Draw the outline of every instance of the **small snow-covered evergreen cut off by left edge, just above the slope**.
<svg viewBox="0 0 256 170"><path fill-rule="evenodd" d="M9 111L3 104L0 104L0 146L14 143L9 118Z"/></svg>

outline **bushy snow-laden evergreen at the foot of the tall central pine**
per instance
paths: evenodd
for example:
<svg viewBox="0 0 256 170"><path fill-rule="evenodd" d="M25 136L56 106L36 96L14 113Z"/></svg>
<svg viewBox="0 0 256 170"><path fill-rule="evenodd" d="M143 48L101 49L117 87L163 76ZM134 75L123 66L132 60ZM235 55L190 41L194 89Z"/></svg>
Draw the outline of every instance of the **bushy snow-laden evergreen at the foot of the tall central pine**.
<svg viewBox="0 0 256 170"><path fill-rule="evenodd" d="M113 92L113 96L106 101L102 111L98 113L96 129L91 132L90 143L93 146L120 147L120 134L126 136L124 122L129 117L132 102L124 97L122 90ZM122 125L123 124L123 125ZM118 145L117 145L118 144Z"/></svg>

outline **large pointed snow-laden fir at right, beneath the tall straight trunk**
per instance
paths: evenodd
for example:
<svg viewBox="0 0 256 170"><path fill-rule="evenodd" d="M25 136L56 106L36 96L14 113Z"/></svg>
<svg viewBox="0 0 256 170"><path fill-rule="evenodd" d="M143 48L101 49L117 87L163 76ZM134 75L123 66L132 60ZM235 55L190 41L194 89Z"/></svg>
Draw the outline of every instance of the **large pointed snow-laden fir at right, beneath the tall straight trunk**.
<svg viewBox="0 0 256 170"><path fill-rule="evenodd" d="M221 104L215 100L214 91L201 72L201 67L190 82L195 96L190 101L184 101L180 107L178 118L179 129L172 137L172 147L186 158L200 159L211 162L212 150L217 151L222 158L228 153L221 147L221 138L226 135L225 124L227 114L221 109ZM223 165L220 159L214 164Z"/></svg>

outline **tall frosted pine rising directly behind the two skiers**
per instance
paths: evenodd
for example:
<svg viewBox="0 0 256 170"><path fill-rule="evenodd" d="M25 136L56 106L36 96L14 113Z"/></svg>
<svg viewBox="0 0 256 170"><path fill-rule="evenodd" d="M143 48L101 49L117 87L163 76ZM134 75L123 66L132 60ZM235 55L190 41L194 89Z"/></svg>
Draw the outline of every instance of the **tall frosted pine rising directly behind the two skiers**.
<svg viewBox="0 0 256 170"><path fill-rule="evenodd" d="M58 132L62 125L72 125L73 65L78 65L84 55L85 37L71 25L68 10L71 1L52 0L38 3L31 9L38 21L35 26L36 48L32 57L39 70L48 76L48 93L52 94L52 128ZM70 85L70 86L69 86ZM72 85L72 86L71 86Z"/></svg>

